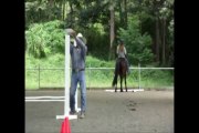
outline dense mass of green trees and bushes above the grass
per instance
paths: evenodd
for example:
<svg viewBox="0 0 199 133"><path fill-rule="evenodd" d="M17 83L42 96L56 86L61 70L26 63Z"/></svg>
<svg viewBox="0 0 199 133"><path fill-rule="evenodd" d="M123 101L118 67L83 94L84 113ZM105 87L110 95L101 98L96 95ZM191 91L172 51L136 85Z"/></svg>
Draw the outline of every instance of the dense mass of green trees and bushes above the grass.
<svg viewBox="0 0 199 133"><path fill-rule="evenodd" d="M25 0L30 55L64 53L65 28L82 32L101 60L115 60L109 54L123 39L132 64L174 64L174 0Z"/></svg>

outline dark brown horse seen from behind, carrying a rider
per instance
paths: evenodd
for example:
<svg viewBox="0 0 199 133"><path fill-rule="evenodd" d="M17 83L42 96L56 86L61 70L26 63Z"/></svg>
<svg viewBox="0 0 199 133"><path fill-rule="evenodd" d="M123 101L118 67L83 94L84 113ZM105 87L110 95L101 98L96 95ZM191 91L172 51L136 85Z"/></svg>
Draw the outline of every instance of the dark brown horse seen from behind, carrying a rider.
<svg viewBox="0 0 199 133"><path fill-rule="evenodd" d="M121 92L123 92L123 79L125 80L125 89L127 92L127 86L126 86L126 72L127 72L127 64L124 58L119 58L118 62L118 68L115 70L115 76L113 80L113 86L115 86L115 92L117 92L117 78L119 75L121 79Z"/></svg>

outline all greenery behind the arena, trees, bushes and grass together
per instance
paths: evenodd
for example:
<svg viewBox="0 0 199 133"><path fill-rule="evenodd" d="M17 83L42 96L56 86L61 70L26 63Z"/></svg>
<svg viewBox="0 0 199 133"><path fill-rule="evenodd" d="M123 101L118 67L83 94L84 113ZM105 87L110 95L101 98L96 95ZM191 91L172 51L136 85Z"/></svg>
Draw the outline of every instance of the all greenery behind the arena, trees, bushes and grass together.
<svg viewBox="0 0 199 133"><path fill-rule="evenodd" d="M174 66L174 0L25 0L25 68L64 68L66 28L86 38L87 68L114 66L118 40L125 42L132 66ZM36 72L25 71L25 88L38 88ZM91 86L111 85L113 71L86 72ZM137 79L136 73L128 80ZM63 74L42 70L41 86L63 86ZM142 82L169 86L174 72L144 70Z"/></svg>

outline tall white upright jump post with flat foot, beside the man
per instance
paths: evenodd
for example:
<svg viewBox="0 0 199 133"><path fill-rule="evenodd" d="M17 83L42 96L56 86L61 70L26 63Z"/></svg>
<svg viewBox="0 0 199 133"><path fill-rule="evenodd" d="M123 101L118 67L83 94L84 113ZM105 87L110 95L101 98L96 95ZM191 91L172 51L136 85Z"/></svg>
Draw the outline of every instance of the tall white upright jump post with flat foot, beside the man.
<svg viewBox="0 0 199 133"><path fill-rule="evenodd" d="M75 94L75 100L77 100L77 91ZM75 108L77 108L77 101ZM69 120L77 119L77 115L70 115L70 35L65 34L65 101L64 101L64 115L56 115L56 119Z"/></svg>

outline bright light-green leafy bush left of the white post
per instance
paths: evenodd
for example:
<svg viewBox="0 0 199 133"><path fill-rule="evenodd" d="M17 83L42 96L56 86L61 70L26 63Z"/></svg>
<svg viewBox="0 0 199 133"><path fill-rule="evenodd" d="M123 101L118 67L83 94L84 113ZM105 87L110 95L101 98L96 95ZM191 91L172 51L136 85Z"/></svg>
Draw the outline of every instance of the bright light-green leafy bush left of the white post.
<svg viewBox="0 0 199 133"><path fill-rule="evenodd" d="M34 58L45 58L49 54L64 53L63 22L59 20L46 23L31 24L25 31L28 52Z"/></svg>

